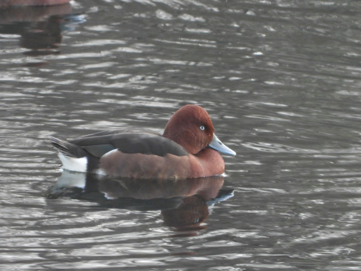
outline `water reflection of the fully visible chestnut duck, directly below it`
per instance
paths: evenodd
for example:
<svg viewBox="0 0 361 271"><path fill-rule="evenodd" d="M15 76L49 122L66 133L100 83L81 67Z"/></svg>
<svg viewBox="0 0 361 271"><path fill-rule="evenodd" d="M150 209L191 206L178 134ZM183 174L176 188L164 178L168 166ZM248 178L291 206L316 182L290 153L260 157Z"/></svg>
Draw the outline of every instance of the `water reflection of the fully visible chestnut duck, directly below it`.
<svg viewBox="0 0 361 271"><path fill-rule="evenodd" d="M97 202L99 207L127 210L160 210L164 224L192 236L202 229L208 207L233 195L221 189L223 176L177 180L115 178L64 170L48 198L71 197Z"/></svg>

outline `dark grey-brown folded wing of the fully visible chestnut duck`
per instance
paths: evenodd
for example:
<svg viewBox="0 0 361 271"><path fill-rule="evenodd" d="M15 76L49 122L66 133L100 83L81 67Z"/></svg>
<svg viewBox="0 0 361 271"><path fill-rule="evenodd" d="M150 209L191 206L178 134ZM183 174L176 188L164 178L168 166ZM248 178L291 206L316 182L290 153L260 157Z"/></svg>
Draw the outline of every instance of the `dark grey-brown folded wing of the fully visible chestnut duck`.
<svg viewBox="0 0 361 271"><path fill-rule="evenodd" d="M188 155L188 152L174 141L157 133L108 133L99 132L85 137L69 140L70 143L81 146L96 157L101 157L111 150L118 149L127 154L154 154L165 156Z"/></svg>

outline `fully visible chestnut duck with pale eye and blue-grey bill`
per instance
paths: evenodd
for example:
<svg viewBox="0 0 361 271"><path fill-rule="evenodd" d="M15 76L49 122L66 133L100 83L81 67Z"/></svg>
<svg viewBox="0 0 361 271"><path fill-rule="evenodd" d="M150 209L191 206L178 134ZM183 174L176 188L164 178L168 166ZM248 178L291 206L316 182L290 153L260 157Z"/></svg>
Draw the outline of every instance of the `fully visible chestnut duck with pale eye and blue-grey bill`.
<svg viewBox="0 0 361 271"><path fill-rule="evenodd" d="M171 116L161 135L123 128L64 141L47 140L59 151L63 168L128 178L196 178L221 175L222 156L236 155L214 134L204 108L188 104Z"/></svg>

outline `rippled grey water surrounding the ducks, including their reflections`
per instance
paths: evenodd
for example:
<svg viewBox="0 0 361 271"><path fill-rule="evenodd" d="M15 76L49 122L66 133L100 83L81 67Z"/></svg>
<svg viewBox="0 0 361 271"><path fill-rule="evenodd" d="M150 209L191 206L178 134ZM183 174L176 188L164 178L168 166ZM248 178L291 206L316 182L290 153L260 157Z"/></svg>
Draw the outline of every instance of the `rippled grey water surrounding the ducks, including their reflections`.
<svg viewBox="0 0 361 271"><path fill-rule="evenodd" d="M359 270L360 1L72 1L0 9L1 270ZM60 171L44 139L183 104L229 176Z"/></svg>

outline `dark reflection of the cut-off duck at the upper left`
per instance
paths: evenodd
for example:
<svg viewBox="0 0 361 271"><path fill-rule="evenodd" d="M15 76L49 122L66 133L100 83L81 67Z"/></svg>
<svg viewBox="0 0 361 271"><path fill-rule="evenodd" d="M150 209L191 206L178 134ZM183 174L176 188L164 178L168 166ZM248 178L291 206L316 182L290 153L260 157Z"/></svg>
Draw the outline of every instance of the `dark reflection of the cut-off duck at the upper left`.
<svg viewBox="0 0 361 271"><path fill-rule="evenodd" d="M49 6L2 7L0 34L19 35L19 45L29 49L24 55L37 57L60 53L62 31L84 22L81 14L71 14L69 3ZM42 66L46 61L32 61L25 66Z"/></svg>

